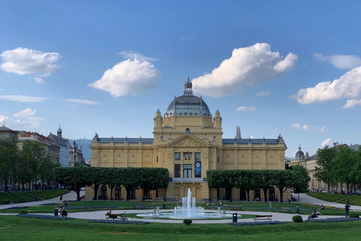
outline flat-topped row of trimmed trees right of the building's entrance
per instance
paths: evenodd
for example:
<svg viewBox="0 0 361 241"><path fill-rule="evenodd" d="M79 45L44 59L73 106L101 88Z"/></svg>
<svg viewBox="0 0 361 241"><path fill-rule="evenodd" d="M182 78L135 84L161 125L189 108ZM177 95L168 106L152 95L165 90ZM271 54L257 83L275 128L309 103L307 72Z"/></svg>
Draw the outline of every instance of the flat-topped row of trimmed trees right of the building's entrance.
<svg viewBox="0 0 361 241"><path fill-rule="evenodd" d="M246 190L248 202L249 190L260 188L264 193L265 202L267 202L267 191L271 186L275 186L280 193L280 202L283 202L283 193L288 188L295 188L295 193L306 192L309 180L307 172L301 166L293 170L216 169L207 171L208 187L224 188L226 190L225 199L228 201L232 201L233 188Z"/></svg>

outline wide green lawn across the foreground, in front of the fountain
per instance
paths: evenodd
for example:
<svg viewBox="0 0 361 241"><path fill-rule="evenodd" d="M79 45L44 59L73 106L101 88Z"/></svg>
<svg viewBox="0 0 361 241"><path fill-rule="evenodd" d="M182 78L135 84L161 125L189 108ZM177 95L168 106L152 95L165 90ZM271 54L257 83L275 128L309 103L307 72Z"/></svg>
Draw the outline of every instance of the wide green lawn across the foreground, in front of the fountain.
<svg viewBox="0 0 361 241"><path fill-rule="evenodd" d="M360 240L361 221L302 222L277 225L151 223L148 225L89 223L88 220L47 220L0 216L0 240Z"/></svg>

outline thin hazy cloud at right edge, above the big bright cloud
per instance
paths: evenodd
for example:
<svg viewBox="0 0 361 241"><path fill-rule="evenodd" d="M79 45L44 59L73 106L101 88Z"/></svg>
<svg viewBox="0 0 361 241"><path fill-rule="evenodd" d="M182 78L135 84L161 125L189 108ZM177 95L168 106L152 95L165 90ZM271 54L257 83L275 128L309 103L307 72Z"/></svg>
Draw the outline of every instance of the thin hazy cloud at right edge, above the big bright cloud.
<svg viewBox="0 0 361 241"><path fill-rule="evenodd" d="M352 69L361 66L361 59L357 55L323 55L315 53L316 59L327 61L338 69Z"/></svg>

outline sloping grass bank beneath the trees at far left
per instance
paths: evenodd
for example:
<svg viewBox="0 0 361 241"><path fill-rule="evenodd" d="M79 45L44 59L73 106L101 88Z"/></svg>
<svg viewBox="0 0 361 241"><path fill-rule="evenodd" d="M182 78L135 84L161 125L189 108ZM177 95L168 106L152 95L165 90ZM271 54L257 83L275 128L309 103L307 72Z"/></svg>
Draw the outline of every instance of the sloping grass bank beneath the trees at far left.
<svg viewBox="0 0 361 241"><path fill-rule="evenodd" d="M6 198L10 198L10 200L13 201L13 203L21 203L21 198L24 198L26 202L32 202L35 201L35 197L32 195L35 195L42 199L51 199L58 197L61 194L65 194L69 192L70 192L69 190L63 190L63 189L30 191L30 192L5 192L5 193L0 193L0 204L7 204L5 202Z"/></svg>

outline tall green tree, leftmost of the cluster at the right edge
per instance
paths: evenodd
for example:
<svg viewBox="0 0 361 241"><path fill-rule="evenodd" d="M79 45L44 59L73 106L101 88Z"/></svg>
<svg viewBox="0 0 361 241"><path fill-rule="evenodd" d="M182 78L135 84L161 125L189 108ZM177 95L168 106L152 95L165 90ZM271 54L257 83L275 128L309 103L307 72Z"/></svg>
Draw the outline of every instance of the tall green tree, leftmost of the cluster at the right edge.
<svg viewBox="0 0 361 241"><path fill-rule="evenodd" d="M315 167L315 177L323 182L327 183L328 191L330 192L330 184L334 177L332 171L334 159L336 156L336 149L329 148L329 146L323 147L318 151L317 165Z"/></svg>

